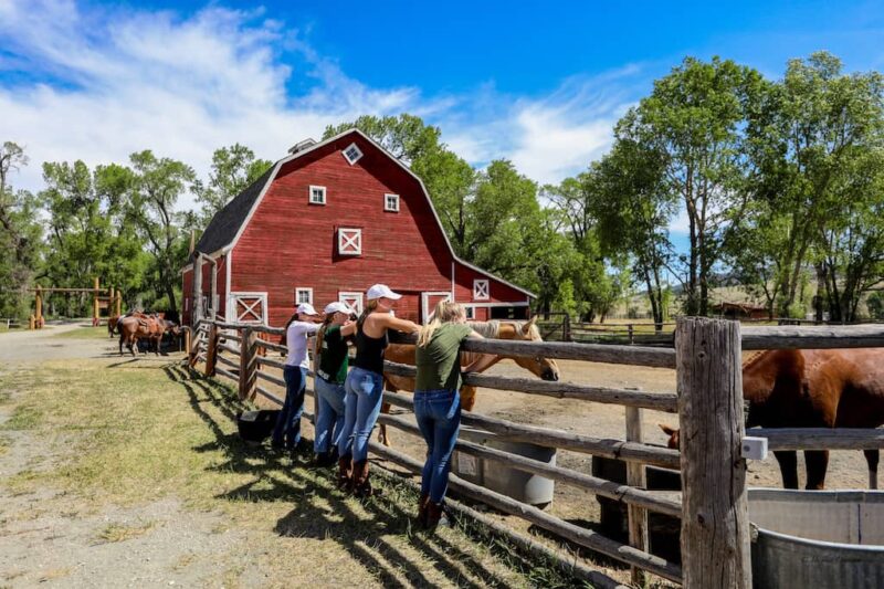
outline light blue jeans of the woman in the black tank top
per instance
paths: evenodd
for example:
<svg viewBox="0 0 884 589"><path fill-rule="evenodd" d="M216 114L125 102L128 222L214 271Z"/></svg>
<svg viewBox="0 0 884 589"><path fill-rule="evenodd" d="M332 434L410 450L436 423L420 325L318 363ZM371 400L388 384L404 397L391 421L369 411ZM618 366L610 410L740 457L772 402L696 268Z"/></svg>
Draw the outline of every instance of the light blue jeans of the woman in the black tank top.
<svg viewBox="0 0 884 589"><path fill-rule="evenodd" d="M355 367L347 375L344 431L338 454L352 455L354 462L368 460L368 439L378 421L383 400L383 376Z"/></svg>

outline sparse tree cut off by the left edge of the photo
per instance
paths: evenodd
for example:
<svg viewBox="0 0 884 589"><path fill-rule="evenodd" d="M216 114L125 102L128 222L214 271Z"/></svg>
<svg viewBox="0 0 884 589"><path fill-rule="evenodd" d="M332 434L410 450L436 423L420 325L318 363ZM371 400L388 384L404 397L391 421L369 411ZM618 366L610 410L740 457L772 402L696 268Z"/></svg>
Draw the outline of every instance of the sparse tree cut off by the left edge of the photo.
<svg viewBox="0 0 884 589"><path fill-rule="evenodd" d="M14 190L10 176L28 165L24 150L12 141L0 146L0 316L27 315L27 288L39 262L41 231L36 200Z"/></svg>

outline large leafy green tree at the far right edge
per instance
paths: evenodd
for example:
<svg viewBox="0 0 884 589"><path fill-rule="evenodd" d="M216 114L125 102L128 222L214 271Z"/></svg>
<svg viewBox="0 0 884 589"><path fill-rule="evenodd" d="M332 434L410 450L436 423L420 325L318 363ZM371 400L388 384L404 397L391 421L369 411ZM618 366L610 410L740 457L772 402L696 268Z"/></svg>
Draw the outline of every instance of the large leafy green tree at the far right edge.
<svg viewBox="0 0 884 589"><path fill-rule="evenodd" d="M827 225L843 225L835 220L852 214L840 200L844 175L856 169L854 158L881 145L882 87L880 73L846 75L838 57L813 53L790 61L783 80L765 85L749 111L748 152L758 170L753 190L768 203L765 213L777 218L778 231L768 236L775 239L781 314L792 312L808 264L820 263L814 248L828 248Z"/></svg>

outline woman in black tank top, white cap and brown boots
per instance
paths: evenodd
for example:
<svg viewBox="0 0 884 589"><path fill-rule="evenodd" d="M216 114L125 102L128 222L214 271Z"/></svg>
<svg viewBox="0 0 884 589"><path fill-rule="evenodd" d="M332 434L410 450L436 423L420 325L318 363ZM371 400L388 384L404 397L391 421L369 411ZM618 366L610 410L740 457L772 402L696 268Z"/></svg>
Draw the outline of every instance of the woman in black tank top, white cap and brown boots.
<svg viewBox="0 0 884 589"><path fill-rule="evenodd" d="M340 332L356 339L354 368L347 376L345 388L344 432L338 459L338 485L346 486L359 497L371 495L368 481L368 439L380 413L383 400L383 350L387 348L387 330L414 333L420 326L397 319L390 314L396 301L402 295L386 284L376 284L368 290L366 309L359 319Z"/></svg>

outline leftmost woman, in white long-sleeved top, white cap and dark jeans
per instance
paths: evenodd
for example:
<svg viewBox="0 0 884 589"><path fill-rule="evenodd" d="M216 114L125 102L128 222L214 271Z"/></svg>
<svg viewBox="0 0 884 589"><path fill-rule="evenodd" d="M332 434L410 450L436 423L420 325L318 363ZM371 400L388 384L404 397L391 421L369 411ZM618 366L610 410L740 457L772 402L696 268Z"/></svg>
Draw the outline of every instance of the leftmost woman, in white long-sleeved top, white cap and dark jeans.
<svg viewBox="0 0 884 589"><path fill-rule="evenodd" d="M301 416L304 413L304 390L307 386L307 337L319 329L319 314L309 303L297 306L295 316L285 327L288 356L285 359L285 403L273 429L273 448L284 448L294 454L301 443ZM294 456L293 456L294 457Z"/></svg>

